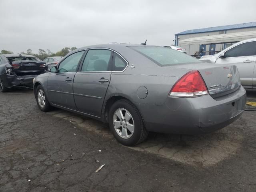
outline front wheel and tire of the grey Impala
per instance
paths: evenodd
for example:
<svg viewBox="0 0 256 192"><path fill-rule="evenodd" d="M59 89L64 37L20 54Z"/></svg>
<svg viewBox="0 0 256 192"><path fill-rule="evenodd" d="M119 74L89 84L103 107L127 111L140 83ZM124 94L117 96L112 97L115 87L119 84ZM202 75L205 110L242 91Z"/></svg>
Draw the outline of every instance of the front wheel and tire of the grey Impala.
<svg viewBox="0 0 256 192"><path fill-rule="evenodd" d="M43 112L52 110L52 106L48 102L44 88L41 85L36 87L36 103L38 108Z"/></svg>

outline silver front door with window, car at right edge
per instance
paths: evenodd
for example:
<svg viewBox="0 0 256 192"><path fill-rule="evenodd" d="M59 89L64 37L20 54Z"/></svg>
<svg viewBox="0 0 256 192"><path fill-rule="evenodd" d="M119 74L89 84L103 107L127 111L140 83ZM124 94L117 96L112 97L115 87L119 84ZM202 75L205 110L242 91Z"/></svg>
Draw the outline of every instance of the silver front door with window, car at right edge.
<svg viewBox="0 0 256 192"><path fill-rule="evenodd" d="M234 64L237 66L241 84L252 88L256 63L256 41L238 44L224 53L225 58L218 58L216 64Z"/></svg>

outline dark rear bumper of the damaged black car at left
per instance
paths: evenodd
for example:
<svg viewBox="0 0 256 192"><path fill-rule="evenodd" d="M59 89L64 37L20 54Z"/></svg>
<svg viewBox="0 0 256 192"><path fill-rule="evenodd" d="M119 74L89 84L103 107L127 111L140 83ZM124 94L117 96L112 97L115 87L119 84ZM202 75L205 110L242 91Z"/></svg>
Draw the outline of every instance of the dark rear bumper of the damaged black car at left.
<svg viewBox="0 0 256 192"><path fill-rule="evenodd" d="M14 86L28 86L33 87L33 79L38 75L29 76L17 76L15 74L3 74L4 86L7 88L12 88Z"/></svg>

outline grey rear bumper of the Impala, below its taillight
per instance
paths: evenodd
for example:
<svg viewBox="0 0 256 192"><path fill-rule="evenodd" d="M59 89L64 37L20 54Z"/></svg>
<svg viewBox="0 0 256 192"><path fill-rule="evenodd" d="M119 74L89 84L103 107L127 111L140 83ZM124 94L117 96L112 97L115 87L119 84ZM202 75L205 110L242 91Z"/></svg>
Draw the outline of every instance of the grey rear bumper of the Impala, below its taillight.
<svg viewBox="0 0 256 192"><path fill-rule="evenodd" d="M224 128L239 118L246 106L242 86L219 98L168 97L164 105L136 104L146 129L173 134L202 134Z"/></svg>

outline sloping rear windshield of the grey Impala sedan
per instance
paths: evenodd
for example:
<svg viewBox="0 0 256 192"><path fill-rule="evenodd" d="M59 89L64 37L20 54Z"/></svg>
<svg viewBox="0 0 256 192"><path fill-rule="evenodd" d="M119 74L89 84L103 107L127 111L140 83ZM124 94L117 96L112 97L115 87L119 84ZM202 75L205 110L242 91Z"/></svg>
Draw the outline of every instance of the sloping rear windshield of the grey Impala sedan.
<svg viewBox="0 0 256 192"><path fill-rule="evenodd" d="M149 58L159 66L201 62L187 54L166 47L131 46L130 48Z"/></svg>

